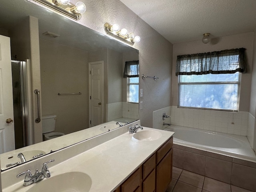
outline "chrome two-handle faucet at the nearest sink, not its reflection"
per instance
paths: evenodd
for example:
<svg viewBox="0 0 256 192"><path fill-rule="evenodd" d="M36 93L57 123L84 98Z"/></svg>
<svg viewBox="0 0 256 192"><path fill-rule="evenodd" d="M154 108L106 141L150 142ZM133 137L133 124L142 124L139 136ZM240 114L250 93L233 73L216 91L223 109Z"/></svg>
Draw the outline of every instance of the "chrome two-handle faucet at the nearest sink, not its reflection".
<svg viewBox="0 0 256 192"><path fill-rule="evenodd" d="M38 169L36 169L35 174L32 175L31 171L27 170L25 172L22 172L22 173L18 174L17 178L26 174L25 179L24 179L24 183L23 183L24 186L29 186L29 185L31 185L33 183L36 183L36 182L38 182L38 181L40 181L44 178L49 178L51 176L51 173L50 173L50 171L47 167L47 164L50 163L50 162L54 162L54 159L44 163L41 172L39 172Z"/></svg>

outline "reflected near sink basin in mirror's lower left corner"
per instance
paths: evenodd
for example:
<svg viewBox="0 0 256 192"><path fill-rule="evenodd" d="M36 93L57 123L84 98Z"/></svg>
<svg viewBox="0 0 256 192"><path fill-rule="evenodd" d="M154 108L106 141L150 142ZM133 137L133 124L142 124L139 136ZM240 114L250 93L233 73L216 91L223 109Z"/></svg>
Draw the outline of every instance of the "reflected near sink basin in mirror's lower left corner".
<svg viewBox="0 0 256 192"><path fill-rule="evenodd" d="M28 151L21 151L22 154L24 155L26 161L32 160L34 156L43 153L44 155L46 154L46 152L41 151L41 150L28 150ZM20 158L18 158L19 152L16 152L14 154L10 154L8 156L4 156L0 158L0 162L1 162L1 169L4 170L6 169L6 165L7 164L11 164L11 163L16 163L16 162L20 162Z"/></svg>

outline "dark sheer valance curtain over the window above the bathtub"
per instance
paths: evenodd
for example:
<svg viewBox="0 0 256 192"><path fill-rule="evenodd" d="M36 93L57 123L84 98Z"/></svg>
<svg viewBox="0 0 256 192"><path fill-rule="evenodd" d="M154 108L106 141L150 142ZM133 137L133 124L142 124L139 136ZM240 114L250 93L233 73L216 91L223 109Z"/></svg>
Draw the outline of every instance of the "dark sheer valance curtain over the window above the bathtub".
<svg viewBox="0 0 256 192"><path fill-rule="evenodd" d="M176 76L247 72L245 48L178 55Z"/></svg>

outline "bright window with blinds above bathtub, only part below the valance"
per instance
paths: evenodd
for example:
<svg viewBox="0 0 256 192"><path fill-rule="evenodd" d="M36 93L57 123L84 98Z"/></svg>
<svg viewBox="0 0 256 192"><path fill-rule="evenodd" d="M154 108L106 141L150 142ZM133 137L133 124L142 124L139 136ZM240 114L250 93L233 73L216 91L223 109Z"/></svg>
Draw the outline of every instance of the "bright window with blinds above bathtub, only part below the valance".
<svg viewBox="0 0 256 192"><path fill-rule="evenodd" d="M180 107L238 111L240 73L179 76Z"/></svg>

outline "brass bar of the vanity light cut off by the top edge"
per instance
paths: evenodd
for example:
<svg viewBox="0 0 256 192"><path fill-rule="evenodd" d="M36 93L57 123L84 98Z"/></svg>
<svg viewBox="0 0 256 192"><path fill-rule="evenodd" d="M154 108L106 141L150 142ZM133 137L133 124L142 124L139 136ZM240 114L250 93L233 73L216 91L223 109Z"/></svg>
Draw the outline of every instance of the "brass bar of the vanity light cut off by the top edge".
<svg viewBox="0 0 256 192"><path fill-rule="evenodd" d="M72 18L74 20L80 20L81 19L81 14L74 14L72 12L69 12L67 11L65 8L72 8L74 7L75 5L72 4L72 3L69 3L68 5L60 5L60 6L57 6L55 5L52 0L34 0L35 2L38 2L60 14L63 14L69 18Z"/></svg>

